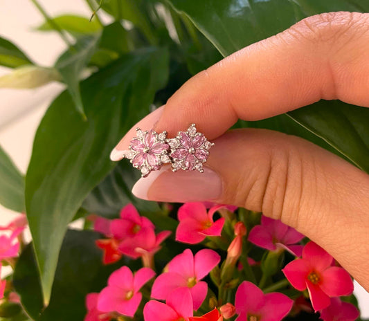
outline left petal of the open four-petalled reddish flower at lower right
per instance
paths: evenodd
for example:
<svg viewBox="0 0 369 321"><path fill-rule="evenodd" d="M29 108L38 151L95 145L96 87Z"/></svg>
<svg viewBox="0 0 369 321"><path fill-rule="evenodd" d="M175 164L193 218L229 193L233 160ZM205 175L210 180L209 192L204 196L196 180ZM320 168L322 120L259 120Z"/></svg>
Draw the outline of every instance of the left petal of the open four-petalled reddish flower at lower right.
<svg viewBox="0 0 369 321"><path fill-rule="evenodd" d="M291 283L294 288L297 288L298 291L304 291L310 269L309 262L306 262L305 259L295 259L289 262L289 264L282 269L282 272L285 273L289 283Z"/></svg>

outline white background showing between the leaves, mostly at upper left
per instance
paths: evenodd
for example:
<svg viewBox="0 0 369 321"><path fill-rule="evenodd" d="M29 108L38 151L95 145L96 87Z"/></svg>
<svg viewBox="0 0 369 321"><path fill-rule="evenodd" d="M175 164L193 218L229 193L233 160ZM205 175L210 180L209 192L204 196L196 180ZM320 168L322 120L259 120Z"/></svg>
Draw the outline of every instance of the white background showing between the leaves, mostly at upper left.
<svg viewBox="0 0 369 321"><path fill-rule="evenodd" d="M83 0L39 2L51 16L75 13L89 17L91 14ZM103 21L109 21L109 17L101 17ZM65 46L58 35L33 30L43 21L30 0L0 0L0 36L17 44L37 64L52 66ZM0 67L0 75L6 73L8 69ZM62 89L63 86L57 83L33 91L0 89L0 145L23 173L28 166L37 125L48 104ZM1 225L10 221L14 215L0 205ZM363 317L368 318L369 293L358 284L355 284L355 293L359 297Z"/></svg>

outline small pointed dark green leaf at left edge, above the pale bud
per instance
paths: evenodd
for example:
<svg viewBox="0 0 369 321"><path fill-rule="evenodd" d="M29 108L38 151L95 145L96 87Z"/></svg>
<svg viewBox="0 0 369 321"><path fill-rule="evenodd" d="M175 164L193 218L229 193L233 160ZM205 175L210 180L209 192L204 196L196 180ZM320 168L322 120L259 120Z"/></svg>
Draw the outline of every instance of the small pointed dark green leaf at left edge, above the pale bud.
<svg viewBox="0 0 369 321"><path fill-rule="evenodd" d="M16 68L24 64L32 64L32 62L15 44L0 37L0 65Z"/></svg>

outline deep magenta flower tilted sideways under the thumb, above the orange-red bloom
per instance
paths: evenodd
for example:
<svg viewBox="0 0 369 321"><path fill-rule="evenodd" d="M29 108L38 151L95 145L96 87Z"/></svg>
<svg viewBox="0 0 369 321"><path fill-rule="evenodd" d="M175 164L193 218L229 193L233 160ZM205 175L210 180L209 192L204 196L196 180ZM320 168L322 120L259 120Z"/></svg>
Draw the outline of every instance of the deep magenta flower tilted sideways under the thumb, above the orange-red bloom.
<svg viewBox="0 0 369 321"><path fill-rule="evenodd" d="M304 235L290 228L281 221L269 219L262 215L261 225L254 226L249 234L249 241L266 248L267 250L278 250L284 248L297 257L301 256L303 246L294 245L301 241Z"/></svg>

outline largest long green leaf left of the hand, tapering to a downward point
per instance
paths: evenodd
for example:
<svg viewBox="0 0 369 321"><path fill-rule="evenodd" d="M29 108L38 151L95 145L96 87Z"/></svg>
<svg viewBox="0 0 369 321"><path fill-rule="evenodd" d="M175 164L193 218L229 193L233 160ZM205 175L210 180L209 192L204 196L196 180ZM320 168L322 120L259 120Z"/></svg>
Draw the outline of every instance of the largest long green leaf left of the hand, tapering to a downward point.
<svg viewBox="0 0 369 321"><path fill-rule="evenodd" d="M114 168L111 149L148 113L167 78L168 52L148 48L123 56L82 82L87 121L66 92L46 111L26 175L27 215L46 304L67 224Z"/></svg>

